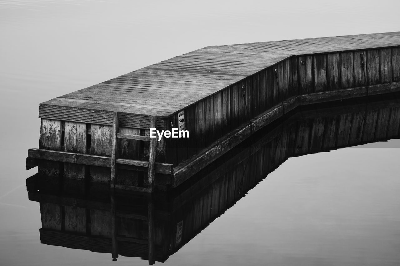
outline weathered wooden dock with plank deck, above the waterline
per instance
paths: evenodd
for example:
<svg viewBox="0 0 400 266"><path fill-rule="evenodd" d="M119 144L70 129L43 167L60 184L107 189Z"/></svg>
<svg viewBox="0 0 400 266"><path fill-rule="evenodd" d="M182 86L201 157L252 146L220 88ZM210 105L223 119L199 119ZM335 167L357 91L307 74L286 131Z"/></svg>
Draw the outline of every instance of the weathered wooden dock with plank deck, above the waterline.
<svg viewBox="0 0 400 266"><path fill-rule="evenodd" d="M396 91L400 32L209 46L41 103L27 169L168 189L298 106Z"/></svg>

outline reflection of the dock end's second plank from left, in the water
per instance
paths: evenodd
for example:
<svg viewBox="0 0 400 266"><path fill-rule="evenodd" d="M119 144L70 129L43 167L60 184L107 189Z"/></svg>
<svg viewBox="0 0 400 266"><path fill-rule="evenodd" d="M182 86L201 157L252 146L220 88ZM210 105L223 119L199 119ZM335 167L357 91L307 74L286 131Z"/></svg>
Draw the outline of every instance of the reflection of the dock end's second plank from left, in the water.
<svg viewBox="0 0 400 266"><path fill-rule="evenodd" d="M86 209L75 206L65 206L64 217L66 232L86 234Z"/></svg>

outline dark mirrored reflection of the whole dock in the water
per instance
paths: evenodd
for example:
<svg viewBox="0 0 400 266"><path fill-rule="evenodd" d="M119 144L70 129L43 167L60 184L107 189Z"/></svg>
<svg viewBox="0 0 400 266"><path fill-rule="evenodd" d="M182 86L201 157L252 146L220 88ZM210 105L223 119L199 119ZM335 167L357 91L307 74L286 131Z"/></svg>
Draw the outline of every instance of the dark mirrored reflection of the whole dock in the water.
<svg viewBox="0 0 400 266"><path fill-rule="evenodd" d="M56 171L49 162L27 179L29 199L40 202L40 240L164 262L289 157L398 138L400 99L392 96L292 112L167 191L114 191L92 176L54 178L46 175Z"/></svg>

